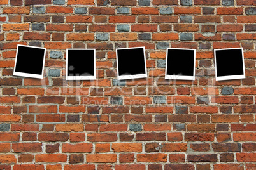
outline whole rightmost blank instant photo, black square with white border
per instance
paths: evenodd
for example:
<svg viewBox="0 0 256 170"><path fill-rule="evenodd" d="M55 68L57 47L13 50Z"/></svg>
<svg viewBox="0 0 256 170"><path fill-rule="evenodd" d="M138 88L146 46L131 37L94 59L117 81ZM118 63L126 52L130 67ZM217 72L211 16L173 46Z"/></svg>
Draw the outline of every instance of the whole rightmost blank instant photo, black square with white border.
<svg viewBox="0 0 256 170"><path fill-rule="evenodd" d="M245 79L243 48L214 49L217 81Z"/></svg>

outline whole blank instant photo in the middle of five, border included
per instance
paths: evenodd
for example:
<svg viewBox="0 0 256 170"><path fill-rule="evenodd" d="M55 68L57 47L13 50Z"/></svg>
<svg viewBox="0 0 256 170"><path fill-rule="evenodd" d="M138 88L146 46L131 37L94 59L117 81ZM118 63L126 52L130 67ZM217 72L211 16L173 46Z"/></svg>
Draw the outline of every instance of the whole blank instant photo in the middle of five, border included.
<svg viewBox="0 0 256 170"><path fill-rule="evenodd" d="M118 48L117 79L138 79L147 77L145 47Z"/></svg>

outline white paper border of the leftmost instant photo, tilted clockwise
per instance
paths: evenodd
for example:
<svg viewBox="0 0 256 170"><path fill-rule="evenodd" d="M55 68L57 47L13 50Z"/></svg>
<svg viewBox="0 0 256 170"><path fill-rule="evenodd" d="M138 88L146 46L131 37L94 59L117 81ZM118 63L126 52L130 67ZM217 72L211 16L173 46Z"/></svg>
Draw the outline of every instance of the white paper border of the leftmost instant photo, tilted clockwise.
<svg viewBox="0 0 256 170"><path fill-rule="evenodd" d="M16 70L16 67L17 67L18 48L19 48L20 46L24 46L24 47L28 47L28 48L44 49L44 54L43 54L43 67L42 67L41 75L40 75L40 74L30 74L30 73L16 72L16 71L15 71L15 70ZM15 56L15 65L14 65L13 75L15 75L15 76L21 76L21 77L30 77L30 78L36 78L36 79L43 79L43 72L44 72L44 69L45 69L45 54L46 54L46 48L43 48L43 47L36 47L36 46L25 46L25 45L18 44L18 45L17 45L17 50L16 50L16 56Z"/></svg>

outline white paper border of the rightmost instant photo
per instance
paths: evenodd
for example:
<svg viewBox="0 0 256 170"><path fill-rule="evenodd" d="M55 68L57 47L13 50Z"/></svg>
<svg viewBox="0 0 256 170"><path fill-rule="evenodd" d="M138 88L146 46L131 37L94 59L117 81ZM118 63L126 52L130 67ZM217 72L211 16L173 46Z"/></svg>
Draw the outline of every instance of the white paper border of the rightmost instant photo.
<svg viewBox="0 0 256 170"><path fill-rule="evenodd" d="M241 52L242 52L242 61L243 61L243 74L242 74L242 75L217 76L216 51L230 50L230 49L241 49ZM243 48L222 48L222 49L214 49L214 62L215 62L215 79L216 79L216 81L224 81L224 80L232 80L232 79L245 79L245 60L244 60L244 56L243 56Z"/></svg>

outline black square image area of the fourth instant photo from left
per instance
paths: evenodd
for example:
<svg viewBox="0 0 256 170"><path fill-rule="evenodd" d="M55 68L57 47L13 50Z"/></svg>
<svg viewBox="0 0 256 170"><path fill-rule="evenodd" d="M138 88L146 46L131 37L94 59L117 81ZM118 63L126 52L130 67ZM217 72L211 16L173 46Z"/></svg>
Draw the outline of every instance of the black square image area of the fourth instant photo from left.
<svg viewBox="0 0 256 170"><path fill-rule="evenodd" d="M168 49L167 75L193 76L194 50Z"/></svg>

